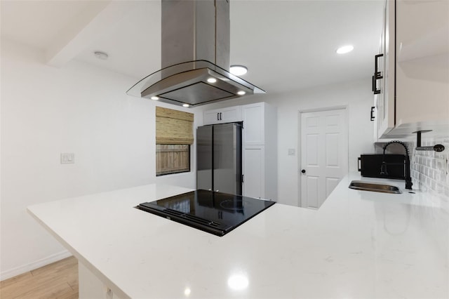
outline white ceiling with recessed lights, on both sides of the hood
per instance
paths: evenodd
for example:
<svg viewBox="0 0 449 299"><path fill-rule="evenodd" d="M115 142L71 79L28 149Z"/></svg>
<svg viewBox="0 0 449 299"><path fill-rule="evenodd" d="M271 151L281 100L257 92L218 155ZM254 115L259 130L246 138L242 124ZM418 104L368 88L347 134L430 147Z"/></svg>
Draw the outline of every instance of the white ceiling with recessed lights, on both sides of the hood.
<svg viewBox="0 0 449 299"><path fill-rule="evenodd" d="M1 39L134 77L161 67L161 1L1 0ZM369 77L382 30L381 0L232 0L232 65L268 93ZM345 44L354 51L337 55ZM103 51L107 60L95 58Z"/></svg>

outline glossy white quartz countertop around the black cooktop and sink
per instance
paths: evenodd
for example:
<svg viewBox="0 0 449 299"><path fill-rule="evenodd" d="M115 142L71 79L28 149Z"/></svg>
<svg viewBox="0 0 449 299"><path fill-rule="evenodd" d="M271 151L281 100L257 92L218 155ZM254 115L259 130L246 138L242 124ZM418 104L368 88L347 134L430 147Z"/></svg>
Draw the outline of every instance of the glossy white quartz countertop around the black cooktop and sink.
<svg viewBox="0 0 449 299"><path fill-rule="evenodd" d="M166 185L28 211L120 298L449 298L444 202L351 180L318 211L274 204L224 237L133 208L191 191Z"/></svg>

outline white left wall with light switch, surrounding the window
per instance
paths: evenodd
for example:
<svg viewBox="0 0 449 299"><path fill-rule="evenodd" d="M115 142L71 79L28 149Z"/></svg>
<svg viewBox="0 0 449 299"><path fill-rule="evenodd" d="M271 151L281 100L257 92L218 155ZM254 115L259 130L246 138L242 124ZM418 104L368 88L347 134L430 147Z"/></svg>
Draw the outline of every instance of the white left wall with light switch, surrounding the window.
<svg viewBox="0 0 449 299"><path fill-rule="evenodd" d="M194 160L191 173L156 178L155 102L125 94L136 79L83 62L48 67L42 54L1 41L1 279L67 254L29 205L152 182L195 187ZM60 164L62 152L75 163Z"/></svg>

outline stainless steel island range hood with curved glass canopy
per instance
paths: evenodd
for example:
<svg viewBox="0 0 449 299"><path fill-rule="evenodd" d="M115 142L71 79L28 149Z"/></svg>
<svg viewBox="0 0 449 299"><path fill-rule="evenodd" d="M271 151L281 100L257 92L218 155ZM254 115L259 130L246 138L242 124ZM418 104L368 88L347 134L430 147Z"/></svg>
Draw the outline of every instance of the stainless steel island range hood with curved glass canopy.
<svg viewBox="0 0 449 299"><path fill-rule="evenodd" d="M126 93L190 107L262 89L229 72L229 0L161 0L162 67Z"/></svg>

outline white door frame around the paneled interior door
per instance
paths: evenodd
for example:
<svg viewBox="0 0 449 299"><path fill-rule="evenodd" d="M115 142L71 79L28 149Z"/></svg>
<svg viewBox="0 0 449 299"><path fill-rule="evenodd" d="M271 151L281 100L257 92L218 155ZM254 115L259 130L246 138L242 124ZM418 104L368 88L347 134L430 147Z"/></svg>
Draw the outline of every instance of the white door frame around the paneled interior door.
<svg viewBox="0 0 449 299"><path fill-rule="evenodd" d="M302 114L308 112L323 112L329 110L344 110L344 117L346 117L346 133L347 133L347 142L348 142L348 152L347 152L347 169L349 170L349 106L348 105L337 105L337 106L329 106L329 107L316 107L309 109L300 109L298 110L298 121L297 121L297 185L298 185L298 194L297 194L297 206L303 207L304 202L302 200L302 182L301 182L301 169L302 169L302 152L301 152L301 140L302 140Z"/></svg>

